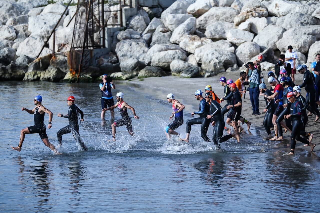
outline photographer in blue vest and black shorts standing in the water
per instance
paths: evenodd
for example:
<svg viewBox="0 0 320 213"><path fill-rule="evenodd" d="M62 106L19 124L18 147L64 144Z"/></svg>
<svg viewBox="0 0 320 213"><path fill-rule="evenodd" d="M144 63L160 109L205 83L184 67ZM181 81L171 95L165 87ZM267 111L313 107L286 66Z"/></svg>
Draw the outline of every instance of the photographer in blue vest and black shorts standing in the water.
<svg viewBox="0 0 320 213"><path fill-rule="evenodd" d="M102 75L102 83L100 83L101 90L101 108L108 108L114 106L115 102L113 101L111 89L116 89L116 86L112 82L112 78L108 77L107 74ZM108 106L108 107L107 107ZM101 111L101 119L104 120L104 114L106 111ZM113 109L110 109L111 120L115 119L115 112Z"/></svg>

